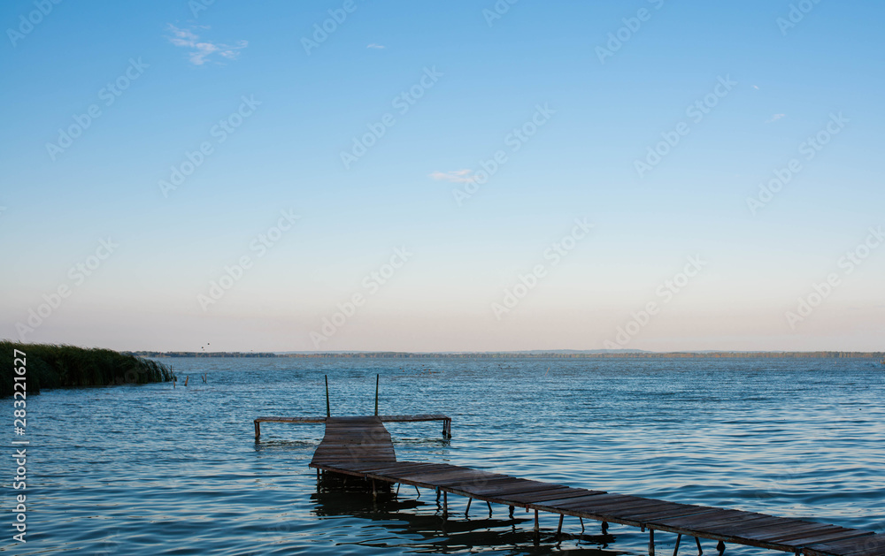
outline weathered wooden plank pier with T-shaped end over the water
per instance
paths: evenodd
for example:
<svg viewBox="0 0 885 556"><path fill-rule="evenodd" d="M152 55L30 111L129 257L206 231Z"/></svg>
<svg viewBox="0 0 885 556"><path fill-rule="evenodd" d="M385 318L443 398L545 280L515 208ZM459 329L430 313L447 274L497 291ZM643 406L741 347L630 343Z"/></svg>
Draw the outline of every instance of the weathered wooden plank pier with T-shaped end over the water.
<svg viewBox="0 0 885 556"><path fill-rule="evenodd" d="M446 415L374 415L365 417L259 417L255 420L255 438L260 422L325 423L326 434L319 444L310 467L323 474L357 476L383 484L411 484L433 489L443 496L443 519L448 516L448 495L467 498L467 510L473 499L489 504L522 507L535 511L535 536L539 531L538 513L559 515L557 537L566 515L608 523L620 523L649 531L649 553L655 553L655 531L675 533L679 551L681 537L695 537L698 554L700 539L757 546L797 556L885 556L885 535L836 525L775 517L735 509L694 506L605 491L589 491L515 476L489 473L473 468L442 463L396 461L385 422L443 421L443 435L450 437L451 419ZM374 488L373 488L374 490Z"/></svg>

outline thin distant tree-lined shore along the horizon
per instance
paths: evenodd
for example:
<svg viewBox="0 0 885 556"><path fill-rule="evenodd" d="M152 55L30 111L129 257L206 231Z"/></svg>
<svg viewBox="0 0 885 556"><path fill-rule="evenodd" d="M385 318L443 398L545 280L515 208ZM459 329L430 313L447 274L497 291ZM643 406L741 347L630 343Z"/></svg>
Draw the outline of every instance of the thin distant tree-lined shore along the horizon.
<svg viewBox="0 0 885 556"><path fill-rule="evenodd" d="M885 352L647 352L647 351L530 351L530 352L124 352L136 357L289 357L348 359L883 359Z"/></svg>

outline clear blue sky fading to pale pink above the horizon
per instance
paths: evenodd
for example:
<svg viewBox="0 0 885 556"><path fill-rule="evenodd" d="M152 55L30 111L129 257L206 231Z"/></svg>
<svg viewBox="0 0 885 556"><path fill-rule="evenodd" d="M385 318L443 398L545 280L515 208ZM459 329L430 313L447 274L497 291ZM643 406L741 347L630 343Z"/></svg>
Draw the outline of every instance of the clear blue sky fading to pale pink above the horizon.
<svg viewBox="0 0 885 556"><path fill-rule="evenodd" d="M882 349L881 4L199 5L0 7L0 337Z"/></svg>

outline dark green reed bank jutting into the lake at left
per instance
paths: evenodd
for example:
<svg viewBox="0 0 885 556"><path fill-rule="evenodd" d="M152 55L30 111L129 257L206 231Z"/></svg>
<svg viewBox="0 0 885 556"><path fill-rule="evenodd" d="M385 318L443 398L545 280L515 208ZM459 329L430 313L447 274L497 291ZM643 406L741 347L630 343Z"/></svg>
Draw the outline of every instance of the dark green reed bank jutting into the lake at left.
<svg viewBox="0 0 885 556"><path fill-rule="evenodd" d="M12 396L14 350L26 354L27 393L49 388L83 386L141 385L173 380L173 372L163 363L121 354L112 349L52 344L21 344L0 341L0 397Z"/></svg>

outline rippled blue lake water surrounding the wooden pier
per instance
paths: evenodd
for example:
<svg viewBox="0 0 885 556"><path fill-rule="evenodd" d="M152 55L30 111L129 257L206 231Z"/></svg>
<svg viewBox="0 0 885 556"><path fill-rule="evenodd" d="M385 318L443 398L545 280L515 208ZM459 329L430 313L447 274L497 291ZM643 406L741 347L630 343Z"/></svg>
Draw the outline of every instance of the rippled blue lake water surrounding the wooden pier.
<svg viewBox="0 0 885 556"><path fill-rule="evenodd" d="M446 461L572 486L885 529L885 368L860 360L165 360L190 385L44 392L27 400L27 545L15 554L643 554L647 537L550 537L542 514L403 487L316 492L322 425L258 415L446 413L388 424L399 459ZM197 377L208 372L208 384ZM183 382L183 381L182 381ZM9 403L11 400L4 400ZM10 440L12 436L8 437ZM7 446L9 442L7 441ZM11 453L10 447L6 451ZM14 470L4 458L6 473ZM9 477L7 477L9 478ZM588 533L597 532L596 522ZM576 518L564 530L580 532ZM674 536L659 533L658 550ZM690 545L690 543L689 543ZM684 554L696 553L685 545ZM715 553L707 541L705 552ZM727 554L766 552L729 546ZM771 552L774 553L774 552Z"/></svg>

